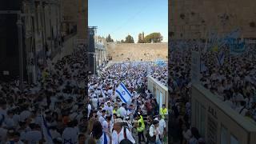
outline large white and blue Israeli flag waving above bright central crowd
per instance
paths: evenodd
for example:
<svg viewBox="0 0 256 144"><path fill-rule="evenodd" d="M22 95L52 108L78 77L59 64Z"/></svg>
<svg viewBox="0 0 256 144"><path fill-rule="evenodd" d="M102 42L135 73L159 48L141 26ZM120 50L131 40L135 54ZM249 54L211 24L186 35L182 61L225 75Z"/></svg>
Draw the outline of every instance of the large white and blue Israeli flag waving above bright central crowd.
<svg viewBox="0 0 256 144"><path fill-rule="evenodd" d="M126 89L126 86L121 82L118 88L115 90L116 94L121 98L122 102L129 102L131 100L131 94Z"/></svg>

